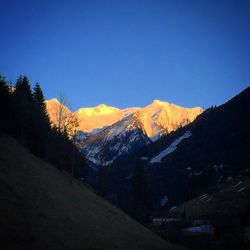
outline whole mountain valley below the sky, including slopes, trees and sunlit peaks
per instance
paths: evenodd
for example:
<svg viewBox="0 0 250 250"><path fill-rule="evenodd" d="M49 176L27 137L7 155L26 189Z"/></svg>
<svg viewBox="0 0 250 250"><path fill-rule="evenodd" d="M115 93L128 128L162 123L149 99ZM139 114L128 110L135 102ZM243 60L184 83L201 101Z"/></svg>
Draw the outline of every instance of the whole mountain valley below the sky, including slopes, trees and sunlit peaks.
<svg viewBox="0 0 250 250"><path fill-rule="evenodd" d="M45 101L25 76L11 91L0 80L4 245L179 248L165 239L191 249L247 249L249 87L206 110L156 100L144 108L71 112ZM79 116L88 128L80 130ZM56 240L64 237L65 244Z"/></svg>

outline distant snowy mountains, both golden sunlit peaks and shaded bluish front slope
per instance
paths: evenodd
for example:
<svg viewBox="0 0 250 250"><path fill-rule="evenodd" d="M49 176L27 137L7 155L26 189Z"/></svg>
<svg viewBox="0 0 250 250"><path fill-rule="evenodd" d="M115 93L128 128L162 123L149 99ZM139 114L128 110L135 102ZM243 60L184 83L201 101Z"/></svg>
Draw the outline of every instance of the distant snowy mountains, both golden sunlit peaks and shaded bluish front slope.
<svg viewBox="0 0 250 250"><path fill-rule="evenodd" d="M162 135L189 124L203 112L199 107L184 108L159 100L143 108L118 109L101 104L76 112L71 112L57 99L46 101L46 105L54 124L59 106L66 116L77 117L78 145L85 157L96 165L113 164Z"/></svg>

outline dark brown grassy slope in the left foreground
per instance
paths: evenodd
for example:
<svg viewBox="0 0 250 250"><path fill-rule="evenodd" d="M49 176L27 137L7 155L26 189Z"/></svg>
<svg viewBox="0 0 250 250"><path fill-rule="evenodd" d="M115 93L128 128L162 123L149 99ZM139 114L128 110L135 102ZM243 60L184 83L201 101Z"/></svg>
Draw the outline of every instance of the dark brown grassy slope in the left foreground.
<svg viewBox="0 0 250 250"><path fill-rule="evenodd" d="M0 249L180 249L0 137Z"/></svg>

